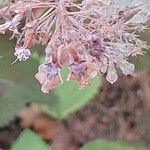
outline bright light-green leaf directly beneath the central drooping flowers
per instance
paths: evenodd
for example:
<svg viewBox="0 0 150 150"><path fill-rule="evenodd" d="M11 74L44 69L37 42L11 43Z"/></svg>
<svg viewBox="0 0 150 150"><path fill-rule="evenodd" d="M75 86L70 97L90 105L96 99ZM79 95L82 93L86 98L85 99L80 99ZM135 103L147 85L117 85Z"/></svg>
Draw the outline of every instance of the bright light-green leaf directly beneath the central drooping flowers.
<svg viewBox="0 0 150 150"><path fill-rule="evenodd" d="M62 72L64 81L66 80L67 70ZM44 106L44 110L57 119L64 119L70 113L84 106L98 91L100 87L100 78L95 77L91 80L91 85L79 89L75 81L65 81L62 85L54 89L54 94L58 96L55 104Z"/></svg>

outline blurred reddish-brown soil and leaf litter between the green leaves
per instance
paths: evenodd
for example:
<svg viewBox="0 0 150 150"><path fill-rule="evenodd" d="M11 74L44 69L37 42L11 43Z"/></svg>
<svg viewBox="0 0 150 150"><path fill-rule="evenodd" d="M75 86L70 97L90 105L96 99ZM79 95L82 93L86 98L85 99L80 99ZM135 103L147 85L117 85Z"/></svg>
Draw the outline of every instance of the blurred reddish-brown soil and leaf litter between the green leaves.
<svg viewBox="0 0 150 150"><path fill-rule="evenodd" d="M121 76L113 85L103 80L99 94L67 120L57 122L39 115L30 127L52 142L53 150L78 150L96 138L150 145L149 116L150 72L141 72L134 78ZM0 147L4 150L21 132L19 124L13 122L0 129Z"/></svg>

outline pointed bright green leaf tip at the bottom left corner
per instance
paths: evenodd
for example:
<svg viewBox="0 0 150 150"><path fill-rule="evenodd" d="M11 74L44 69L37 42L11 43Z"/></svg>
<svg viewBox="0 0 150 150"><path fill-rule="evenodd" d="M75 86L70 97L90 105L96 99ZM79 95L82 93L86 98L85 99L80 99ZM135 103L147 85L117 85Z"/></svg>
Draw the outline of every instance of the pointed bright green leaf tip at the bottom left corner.
<svg viewBox="0 0 150 150"><path fill-rule="evenodd" d="M25 129L13 143L11 150L50 150L50 146L32 130Z"/></svg>

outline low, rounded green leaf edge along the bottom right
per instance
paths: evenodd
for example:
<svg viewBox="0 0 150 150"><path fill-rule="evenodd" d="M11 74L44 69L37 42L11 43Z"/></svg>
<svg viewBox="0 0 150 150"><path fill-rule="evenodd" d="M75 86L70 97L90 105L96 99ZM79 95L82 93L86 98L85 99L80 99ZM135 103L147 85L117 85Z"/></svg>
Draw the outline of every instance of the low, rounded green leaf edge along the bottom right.
<svg viewBox="0 0 150 150"><path fill-rule="evenodd" d="M131 145L123 142L95 140L85 144L80 150L145 150L145 148L141 145Z"/></svg>

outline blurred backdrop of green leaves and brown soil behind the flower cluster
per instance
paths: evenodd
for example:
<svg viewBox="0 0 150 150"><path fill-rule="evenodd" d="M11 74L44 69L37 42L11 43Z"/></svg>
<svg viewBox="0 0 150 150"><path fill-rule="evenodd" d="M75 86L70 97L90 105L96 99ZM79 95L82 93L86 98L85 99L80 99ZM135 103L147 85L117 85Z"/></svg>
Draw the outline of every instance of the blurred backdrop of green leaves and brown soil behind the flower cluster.
<svg viewBox="0 0 150 150"><path fill-rule="evenodd" d="M79 90L73 81L43 94L34 75L43 47L26 62L15 60L14 41L0 35L1 150L150 149L150 52L130 58L134 77L111 85L96 77ZM150 31L141 34L150 43ZM63 70L63 78L66 79Z"/></svg>

